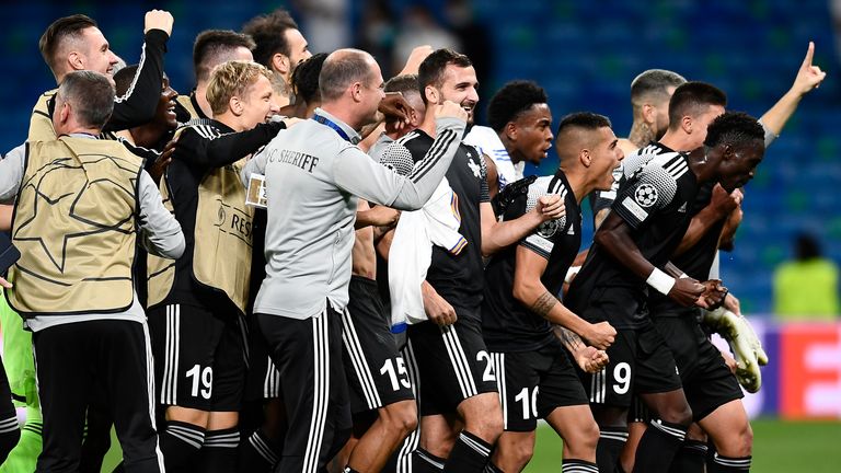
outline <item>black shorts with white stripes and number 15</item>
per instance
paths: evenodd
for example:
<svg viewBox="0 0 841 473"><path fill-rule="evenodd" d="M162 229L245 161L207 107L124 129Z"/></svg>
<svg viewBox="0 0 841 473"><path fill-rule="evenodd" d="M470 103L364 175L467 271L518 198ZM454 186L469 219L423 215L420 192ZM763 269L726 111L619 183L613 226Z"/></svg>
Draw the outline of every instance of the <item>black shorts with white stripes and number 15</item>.
<svg viewBox="0 0 841 473"><path fill-rule="evenodd" d="M354 414L415 399L377 281L354 276L348 293L350 299L342 316L342 342Z"/></svg>

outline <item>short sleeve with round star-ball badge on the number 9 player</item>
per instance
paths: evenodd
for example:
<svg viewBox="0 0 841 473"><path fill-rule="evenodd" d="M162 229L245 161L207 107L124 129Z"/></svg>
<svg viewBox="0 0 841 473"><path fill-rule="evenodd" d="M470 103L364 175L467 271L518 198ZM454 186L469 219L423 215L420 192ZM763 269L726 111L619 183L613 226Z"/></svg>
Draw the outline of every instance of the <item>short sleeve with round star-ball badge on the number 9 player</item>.
<svg viewBox="0 0 841 473"><path fill-rule="evenodd" d="M648 166L632 178L617 195L613 211L637 229L675 199L678 183L660 166Z"/></svg>

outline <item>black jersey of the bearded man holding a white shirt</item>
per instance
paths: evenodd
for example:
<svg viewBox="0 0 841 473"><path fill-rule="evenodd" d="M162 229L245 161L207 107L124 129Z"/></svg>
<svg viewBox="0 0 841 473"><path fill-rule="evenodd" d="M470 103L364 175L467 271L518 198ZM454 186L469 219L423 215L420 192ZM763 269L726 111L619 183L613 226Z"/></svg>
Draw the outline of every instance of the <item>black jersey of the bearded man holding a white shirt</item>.
<svg viewBox="0 0 841 473"><path fill-rule="evenodd" d="M398 142L403 143L414 162L418 162L434 141L433 137L417 129ZM447 170L447 181L458 199L461 216L459 233L468 241L468 245L458 255L433 245L431 264L426 274L427 282L447 302L476 315L482 304L484 286L480 204L491 201L486 174L485 161L476 149L460 145Z"/></svg>

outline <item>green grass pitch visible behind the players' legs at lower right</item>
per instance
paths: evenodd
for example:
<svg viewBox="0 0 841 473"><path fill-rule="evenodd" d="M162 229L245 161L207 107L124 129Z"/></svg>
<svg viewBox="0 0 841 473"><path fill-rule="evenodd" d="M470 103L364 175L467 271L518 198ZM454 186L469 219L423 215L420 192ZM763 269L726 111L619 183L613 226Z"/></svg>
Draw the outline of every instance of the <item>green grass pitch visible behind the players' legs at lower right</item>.
<svg viewBox="0 0 841 473"><path fill-rule="evenodd" d="M756 473L841 472L841 423L757 419L753 426ZM534 458L526 473L561 471L561 440L551 427L538 430Z"/></svg>

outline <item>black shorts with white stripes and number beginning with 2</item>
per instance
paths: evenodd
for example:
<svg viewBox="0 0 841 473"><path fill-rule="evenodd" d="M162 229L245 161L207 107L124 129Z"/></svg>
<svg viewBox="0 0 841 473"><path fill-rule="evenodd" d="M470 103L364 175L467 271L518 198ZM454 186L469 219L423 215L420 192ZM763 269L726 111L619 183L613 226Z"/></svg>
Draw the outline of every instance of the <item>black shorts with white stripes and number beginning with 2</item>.
<svg viewBox="0 0 841 473"><path fill-rule="evenodd" d="M497 392L494 364L482 338L477 311L456 308L456 313L458 321L446 327L433 322L408 327L413 362L419 371L422 416L454 413L469 397Z"/></svg>

